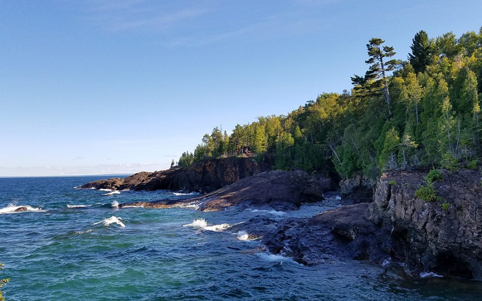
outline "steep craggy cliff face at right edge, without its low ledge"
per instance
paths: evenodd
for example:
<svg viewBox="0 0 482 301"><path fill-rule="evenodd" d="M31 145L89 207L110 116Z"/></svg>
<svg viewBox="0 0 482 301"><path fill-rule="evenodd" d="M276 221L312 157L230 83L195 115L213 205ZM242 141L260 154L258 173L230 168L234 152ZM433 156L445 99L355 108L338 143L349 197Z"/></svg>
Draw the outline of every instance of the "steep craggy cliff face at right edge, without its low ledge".
<svg viewBox="0 0 482 301"><path fill-rule="evenodd" d="M424 173L384 174L365 217L382 228L380 236L391 242L386 251L407 267L482 279L482 174L443 174L434 184L438 202L415 196Z"/></svg>

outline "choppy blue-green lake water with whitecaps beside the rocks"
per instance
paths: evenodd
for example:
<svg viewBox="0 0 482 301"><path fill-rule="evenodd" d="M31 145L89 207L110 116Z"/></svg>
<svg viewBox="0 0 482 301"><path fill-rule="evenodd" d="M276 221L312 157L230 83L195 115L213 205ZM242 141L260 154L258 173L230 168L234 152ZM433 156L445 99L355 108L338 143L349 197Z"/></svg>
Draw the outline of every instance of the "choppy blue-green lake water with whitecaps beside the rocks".
<svg viewBox="0 0 482 301"><path fill-rule="evenodd" d="M408 278L357 261L305 267L241 241L233 224L268 215L312 216L336 199L279 213L229 209L113 207L115 202L186 198L173 192L74 187L100 177L0 179L0 261L6 300L477 300L482 285ZM36 211L5 213L16 206ZM67 205L73 207L68 208ZM84 205L86 207L78 207ZM88 206L88 207L87 207ZM115 217L115 218L112 218ZM114 221L108 224L105 220ZM196 219L205 219L206 230ZM124 227L122 226L124 225ZM211 225L219 225L211 227Z"/></svg>

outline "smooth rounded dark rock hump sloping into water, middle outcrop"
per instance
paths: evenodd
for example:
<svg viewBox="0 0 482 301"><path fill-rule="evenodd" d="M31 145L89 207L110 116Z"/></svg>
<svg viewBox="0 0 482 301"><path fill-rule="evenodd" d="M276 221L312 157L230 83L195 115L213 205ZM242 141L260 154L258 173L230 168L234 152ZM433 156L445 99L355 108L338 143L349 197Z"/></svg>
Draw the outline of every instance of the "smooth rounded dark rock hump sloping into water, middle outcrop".
<svg viewBox="0 0 482 301"><path fill-rule="evenodd" d="M200 210L203 211L217 211L235 205L294 210L303 202L322 200L323 191L330 190L330 188L330 180L312 177L305 171L272 170L258 173L215 192L184 201L134 202L120 204L119 207L166 208L185 203L199 203Z"/></svg>

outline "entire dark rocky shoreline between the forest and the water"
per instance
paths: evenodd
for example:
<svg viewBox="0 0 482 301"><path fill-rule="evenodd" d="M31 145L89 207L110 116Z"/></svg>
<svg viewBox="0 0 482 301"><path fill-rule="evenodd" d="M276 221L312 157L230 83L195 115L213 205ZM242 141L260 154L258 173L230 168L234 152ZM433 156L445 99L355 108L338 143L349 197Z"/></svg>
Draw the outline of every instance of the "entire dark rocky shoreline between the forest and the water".
<svg viewBox="0 0 482 301"><path fill-rule="evenodd" d="M229 163L232 167L225 170L230 172L224 174L230 177L222 180L215 177L223 174L220 170L225 162L217 162L187 171L174 169L135 174L124 180L96 181L82 188L180 189L181 183L190 183L186 187L191 191L198 187L209 191L221 186L182 202L119 205L166 208L197 204L199 210L216 211L229 206L296 210L302 203L322 200L323 193L335 187L330 179L304 171L262 171L259 165L247 162L251 159L242 159ZM202 176L193 176L195 170L201 170ZM434 184L438 201L427 202L415 195L426 173L392 171L376 183L361 177L345 180L340 185L342 195L349 195L351 200L344 200L344 205L334 210L311 218L251 219L243 223L242 229L238 227L260 237L271 253L308 266L331 258L367 260L402 266L409 274L429 271L481 280L482 174L466 169L444 170L442 174L444 180ZM179 180L186 178L191 180Z"/></svg>

